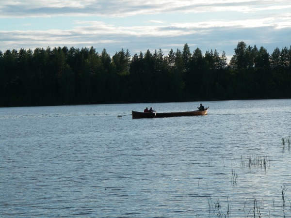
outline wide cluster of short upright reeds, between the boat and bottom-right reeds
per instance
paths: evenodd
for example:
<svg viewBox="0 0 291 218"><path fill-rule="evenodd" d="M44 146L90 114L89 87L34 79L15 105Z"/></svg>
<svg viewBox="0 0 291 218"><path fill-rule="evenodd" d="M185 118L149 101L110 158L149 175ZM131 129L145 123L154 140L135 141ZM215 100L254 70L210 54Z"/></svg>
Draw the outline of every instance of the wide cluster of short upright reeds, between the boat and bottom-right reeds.
<svg viewBox="0 0 291 218"><path fill-rule="evenodd" d="M241 167L252 168L261 168L266 170L267 166L270 165L270 157L264 155L249 155L241 156Z"/></svg>

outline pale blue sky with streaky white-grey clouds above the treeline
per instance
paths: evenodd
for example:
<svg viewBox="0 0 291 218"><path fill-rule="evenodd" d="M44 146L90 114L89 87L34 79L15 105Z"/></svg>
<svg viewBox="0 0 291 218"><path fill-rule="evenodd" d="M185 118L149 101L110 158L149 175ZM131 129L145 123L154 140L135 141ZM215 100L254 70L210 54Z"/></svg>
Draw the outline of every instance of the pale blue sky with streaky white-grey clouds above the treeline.
<svg viewBox="0 0 291 218"><path fill-rule="evenodd" d="M239 42L272 54L291 46L290 0L0 0L0 51L37 47L162 49L202 54L215 49L228 61Z"/></svg>

